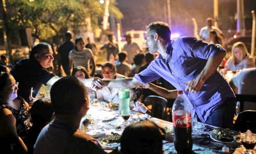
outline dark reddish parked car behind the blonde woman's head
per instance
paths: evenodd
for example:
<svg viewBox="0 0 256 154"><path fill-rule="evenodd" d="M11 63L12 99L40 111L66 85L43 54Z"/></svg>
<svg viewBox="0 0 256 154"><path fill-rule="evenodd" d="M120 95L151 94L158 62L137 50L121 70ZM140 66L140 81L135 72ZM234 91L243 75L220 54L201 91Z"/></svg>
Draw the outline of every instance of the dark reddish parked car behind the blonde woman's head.
<svg viewBox="0 0 256 154"><path fill-rule="evenodd" d="M227 53L229 53L229 52L231 53L233 44L238 42L238 41L241 41L241 42L245 43L245 46L248 50L248 53L251 53L252 36L232 38L229 41L224 42L223 48L226 49ZM256 49L256 45L255 45L255 49Z"/></svg>

